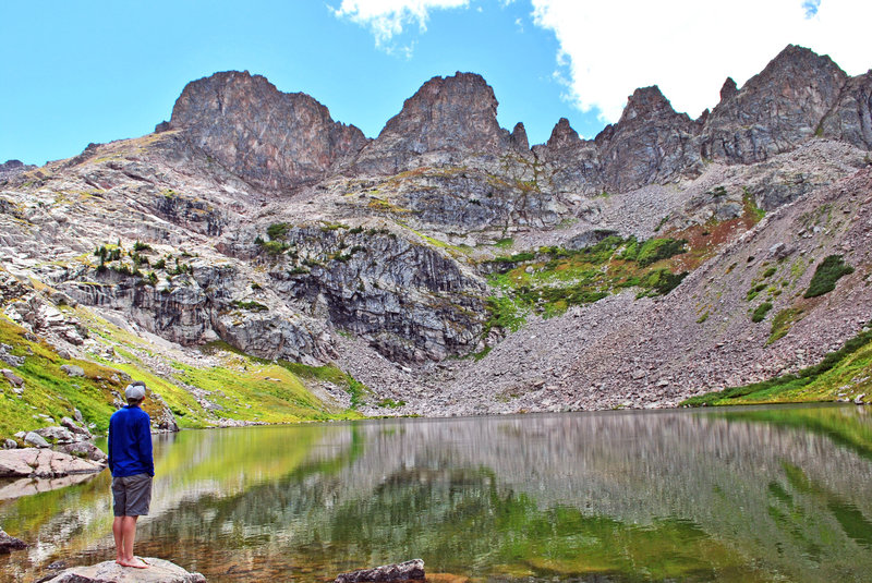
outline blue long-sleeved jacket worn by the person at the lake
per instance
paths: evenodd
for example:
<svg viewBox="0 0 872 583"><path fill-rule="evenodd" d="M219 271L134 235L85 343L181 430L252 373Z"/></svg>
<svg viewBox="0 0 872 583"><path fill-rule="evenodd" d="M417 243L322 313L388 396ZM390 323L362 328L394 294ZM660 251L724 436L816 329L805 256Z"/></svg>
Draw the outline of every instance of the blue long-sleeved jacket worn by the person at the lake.
<svg viewBox="0 0 872 583"><path fill-rule="evenodd" d="M138 406L125 405L109 418L109 471L113 477L155 475L152 418Z"/></svg>

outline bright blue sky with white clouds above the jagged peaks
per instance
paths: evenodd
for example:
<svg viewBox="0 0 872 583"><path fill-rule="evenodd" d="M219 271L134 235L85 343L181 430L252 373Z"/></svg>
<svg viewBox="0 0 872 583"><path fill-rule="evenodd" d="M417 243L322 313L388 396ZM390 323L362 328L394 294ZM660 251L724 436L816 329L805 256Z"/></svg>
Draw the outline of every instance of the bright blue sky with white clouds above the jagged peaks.
<svg viewBox="0 0 872 583"><path fill-rule="evenodd" d="M831 51L852 74L872 65L864 41L846 39L850 31L822 34L872 22L872 14L858 16L872 2L771 0L763 10L756 0L736 0L736 17L750 17L741 13L747 4L767 34L727 48L711 42L712 31L694 33L693 19L712 15L689 0L640 2L638 11L628 10L633 2L601 3L5 0L0 162L41 165L89 142L149 133L169 119L187 82L216 71L249 70L280 90L307 93L371 137L432 76L476 72L494 87L501 125L523 121L533 144L546 141L561 117L593 137L617 119L633 88L653 83L695 118L716 104L727 74L741 85L789 41ZM645 12L651 5L656 11ZM693 17L676 19L680 11ZM714 22L732 25L732 12ZM754 33L756 21L746 22L746 32ZM673 33L664 29L670 26ZM687 42L676 42L679 35ZM706 39L704 51L692 46Z"/></svg>

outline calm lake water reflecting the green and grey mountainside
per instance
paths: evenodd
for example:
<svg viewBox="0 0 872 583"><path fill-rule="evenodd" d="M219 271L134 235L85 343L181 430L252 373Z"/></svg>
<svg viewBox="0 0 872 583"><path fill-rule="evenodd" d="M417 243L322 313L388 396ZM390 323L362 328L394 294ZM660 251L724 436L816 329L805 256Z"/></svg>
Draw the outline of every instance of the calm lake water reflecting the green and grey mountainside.
<svg viewBox="0 0 872 583"><path fill-rule="evenodd" d="M872 409L251 427L156 438L136 552L210 582L872 581ZM0 502L0 580L114 557L109 475ZM438 575L437 575L438 573Z"/></svg>

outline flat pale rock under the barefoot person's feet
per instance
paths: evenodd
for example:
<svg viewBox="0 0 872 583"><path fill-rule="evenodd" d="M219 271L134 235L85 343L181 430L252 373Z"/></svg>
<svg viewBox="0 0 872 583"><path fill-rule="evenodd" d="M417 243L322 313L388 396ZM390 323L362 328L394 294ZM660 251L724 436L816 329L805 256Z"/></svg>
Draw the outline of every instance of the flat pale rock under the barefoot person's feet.
<svg viewBox="0 0 872 583"><path fill-rule="evenodd" d="M148 569L121 567L114 561L105 561L89 567L73 567L49 579L46 583L205 583L199 573L189 573L178 564L143 557Z"/></svg>

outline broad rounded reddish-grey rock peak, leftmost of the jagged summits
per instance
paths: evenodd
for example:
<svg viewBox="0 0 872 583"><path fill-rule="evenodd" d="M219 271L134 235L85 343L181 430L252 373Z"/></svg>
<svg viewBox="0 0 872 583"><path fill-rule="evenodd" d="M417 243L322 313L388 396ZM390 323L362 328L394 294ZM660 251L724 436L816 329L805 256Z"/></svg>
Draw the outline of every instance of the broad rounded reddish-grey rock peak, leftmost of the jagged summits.
<svg viewBox="0 0 872 583"><path fill-rule="evenodd" d="M335 122L312 97L281 93L247 71L187 84L166 127L180 130L193 145L267 191L324 178L367 142L353 125Z"/></svg>

